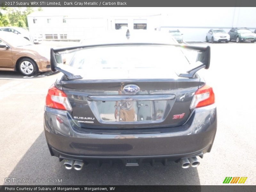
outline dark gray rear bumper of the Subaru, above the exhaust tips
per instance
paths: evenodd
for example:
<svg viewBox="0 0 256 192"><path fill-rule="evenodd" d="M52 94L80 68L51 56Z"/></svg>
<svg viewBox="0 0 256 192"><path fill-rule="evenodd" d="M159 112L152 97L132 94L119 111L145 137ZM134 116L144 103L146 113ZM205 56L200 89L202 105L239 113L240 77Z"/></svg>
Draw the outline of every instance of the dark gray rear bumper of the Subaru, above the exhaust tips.
<svg viewBox="0 0 256 192"><path fill-rule="evenodd" d="M63 123L59 123L56 116L61 117ZM45 108L46 140L51 155L60 160L176 161L210 152L217 129L217 113L215 105L197 108L181 126L141 129L139 134L96 134L93 130L81 132L72 124L72 118L65 111Z"/></svg>

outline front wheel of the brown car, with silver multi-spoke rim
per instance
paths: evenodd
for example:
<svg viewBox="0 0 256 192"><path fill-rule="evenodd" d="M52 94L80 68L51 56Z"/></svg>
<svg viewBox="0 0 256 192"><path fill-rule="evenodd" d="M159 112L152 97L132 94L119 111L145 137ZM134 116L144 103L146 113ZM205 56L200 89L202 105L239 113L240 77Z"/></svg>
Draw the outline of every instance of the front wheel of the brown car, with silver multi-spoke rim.
<svg viewBox="0 0 256 192"><path fill-rule="evenodd" d="M19 62L20 72L25 76L35 75L37 72L36 62L29 58L24 58Z"/></svg>

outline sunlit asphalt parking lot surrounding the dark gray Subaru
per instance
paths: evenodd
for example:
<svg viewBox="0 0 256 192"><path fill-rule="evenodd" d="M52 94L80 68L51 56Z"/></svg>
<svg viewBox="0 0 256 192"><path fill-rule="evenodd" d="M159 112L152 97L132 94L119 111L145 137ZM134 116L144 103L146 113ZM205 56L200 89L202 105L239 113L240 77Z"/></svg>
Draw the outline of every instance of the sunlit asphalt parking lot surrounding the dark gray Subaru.
<svg viewBox="0 0 256 192"><path fill-rule="evenodd" d="M168 162L139 167L89 164L82 171L66 170L58 158L50 156L43 132L45 96L61 73L24 78L17 72L0 71L0 184L221 185L225 177L248 177L245 184L255 185L256 43L209 45L211 66L201 73L214 88L218 129L211 153L200 159L197 168L182 169ZM5 183L7 177L62 182Z"/></svg>

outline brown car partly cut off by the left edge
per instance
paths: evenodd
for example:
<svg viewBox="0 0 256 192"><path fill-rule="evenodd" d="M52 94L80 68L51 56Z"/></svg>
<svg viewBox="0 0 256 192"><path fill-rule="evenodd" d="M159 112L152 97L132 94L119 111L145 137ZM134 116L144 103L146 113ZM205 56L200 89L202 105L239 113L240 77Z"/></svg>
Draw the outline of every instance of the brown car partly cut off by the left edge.
<svg viewBox="0 0 256 192"><path fill-rule="evenodd" d="M25 76L35 75L38 71L51 71L50 49L0 31L0 70L20 71Z"/></svg>

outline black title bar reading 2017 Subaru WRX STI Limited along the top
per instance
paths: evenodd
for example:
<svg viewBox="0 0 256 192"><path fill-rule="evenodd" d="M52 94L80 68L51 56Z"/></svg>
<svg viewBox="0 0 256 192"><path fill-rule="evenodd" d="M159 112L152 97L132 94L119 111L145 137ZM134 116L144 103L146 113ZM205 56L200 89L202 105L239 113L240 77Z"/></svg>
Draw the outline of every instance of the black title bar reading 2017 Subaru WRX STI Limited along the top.
<svg viewBox="0 0 256 192"><path fill-rule="evenodd" d="M2 7L256 7L255 0L0 0L0 4Z"/></svg>

